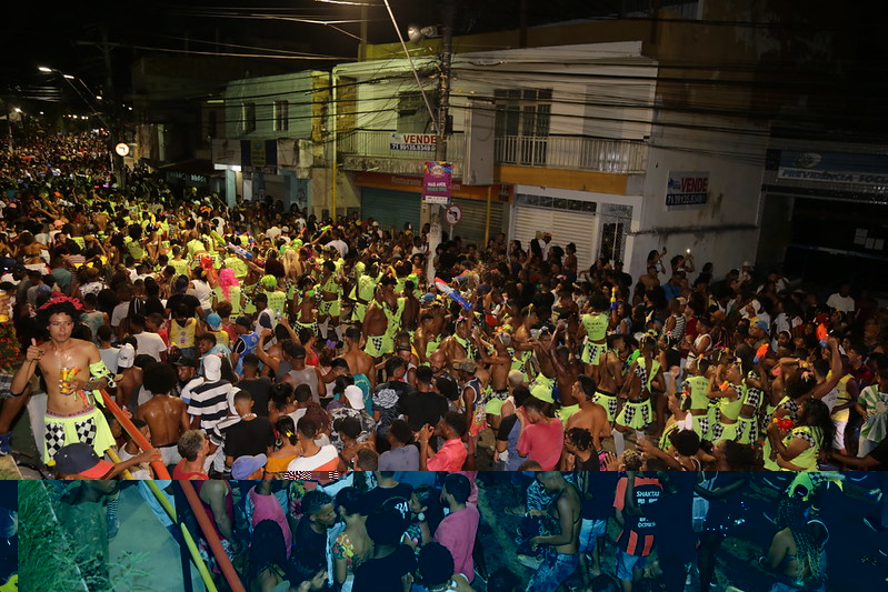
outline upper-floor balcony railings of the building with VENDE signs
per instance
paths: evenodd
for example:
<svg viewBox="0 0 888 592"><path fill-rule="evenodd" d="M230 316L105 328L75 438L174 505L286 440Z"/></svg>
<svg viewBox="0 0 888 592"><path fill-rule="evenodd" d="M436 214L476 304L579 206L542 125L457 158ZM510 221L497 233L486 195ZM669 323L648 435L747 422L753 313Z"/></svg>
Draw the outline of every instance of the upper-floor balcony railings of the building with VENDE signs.
<svg viewBox="0 0 888 592"><path fill-rule="evenodd" d="M356 131L341 134L339 152L346 155L399 160L430 160L433 150L407 151L390 148L391 132ZM465 139L455 133L448 142L448 160L461 162ZM612 173L643 172L648 147L629 140L602 140L581 136L516 137L495 140L497 164L520 164Z"/></svg>

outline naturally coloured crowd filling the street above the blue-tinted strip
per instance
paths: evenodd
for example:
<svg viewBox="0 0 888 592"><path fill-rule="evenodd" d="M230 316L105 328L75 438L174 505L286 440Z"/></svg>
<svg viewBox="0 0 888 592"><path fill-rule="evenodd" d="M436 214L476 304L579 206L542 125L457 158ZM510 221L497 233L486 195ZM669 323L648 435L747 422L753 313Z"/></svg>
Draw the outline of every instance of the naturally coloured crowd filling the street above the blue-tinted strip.
<svg viewBox="0 0 888 592"><path fill-rule="evenodd" d="M242 478L239 460L268 478L888 460L888 314L848 285L821 301L748 262L691 281L692 254L666 249L633 280L605 257L578 269L548 233L430 253L428 228L229 209L143 171L120 188L100 143L42 138L0 178L20 344L0 450L47 393L38 438L59 476L109 449L114 475L162 459L194 479ZM54 462L78 442L97 458Z"/></svg>

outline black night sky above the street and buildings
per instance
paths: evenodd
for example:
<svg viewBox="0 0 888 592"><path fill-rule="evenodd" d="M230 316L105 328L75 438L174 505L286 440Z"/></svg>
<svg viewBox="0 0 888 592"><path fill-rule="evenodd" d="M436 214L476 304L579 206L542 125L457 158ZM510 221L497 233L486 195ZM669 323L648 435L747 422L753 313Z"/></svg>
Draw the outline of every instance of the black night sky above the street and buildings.
<svg viewBox="0 0 888 592"><path fill-rule="evenodd" d="M0 42L3 43L0 50L0 94L34 98L58 93L58 88L63 87L61 81L58 77L52 80L53 77L40 74L38 66L49 66L74 74L101 91L106 84L106 68L102 51L94 43L101 41L103 31L108 41L116 44L111 50L113 83L121 96L130 86L130 66L138 58L151 53L182 56L181 51L186 49L247 53L298 51L352 59L358 42L347 33L357 36L357 22L337 23L336 27L341 28L342 32L330 26L283 20L357 20L360 17L357 6L337 3L349 1L7 2L0 19ZM396 41L382 0L368 1L372 3L368 9L370 42ZM390 1L402 30L411 22L440 22L439 2ZM737 0L707 2L709 7L721 3L739 6ZM456 34L518 28L521 0L456 0ZM595 16L612 17L625 4L621 0L526 0L531 26ZM669 2L661 1L660 4ZM789 33L801 30L809 36L822 33L836 39L838 59L831 60L829 68L838 70L839 81L830 90L830 96L854 97L852 102L858 107L849 111L855 112L856 127L860 127L862 121L864 127L888 131L888 36L882 31L888 20L888 2L836 3L815 0L799 4L792 0L768 0L762 6L785 11ZM798 13L795 10L799 10ZM250 18L251 14L270 18ZM266 61L261 58L251 59ZM283 71L329 69L336 63L269 61L289 69Z"/></svg>

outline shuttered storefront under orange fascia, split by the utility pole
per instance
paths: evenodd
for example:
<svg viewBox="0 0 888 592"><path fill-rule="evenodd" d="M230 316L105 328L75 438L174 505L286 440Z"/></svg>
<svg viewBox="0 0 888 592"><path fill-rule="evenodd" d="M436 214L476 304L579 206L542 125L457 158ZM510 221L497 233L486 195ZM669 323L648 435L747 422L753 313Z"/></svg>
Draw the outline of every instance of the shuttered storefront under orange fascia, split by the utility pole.
<svg viewBox="0 0 888 592"><path fill-rule="evenodd" d="M403 230L409 223L420 229L422 214L422 179L401 174L359 172L355 183L360 188L361 218L372 218L386 230ZM462 212L462 219L453 225L453 235L460 237L463 244L483 245L485 237L496 238L505 232L508 220L508 205L511 198L509 187L488 187L452 184L452 203ZM443 227L445 235L450 227Z"/></svg>

